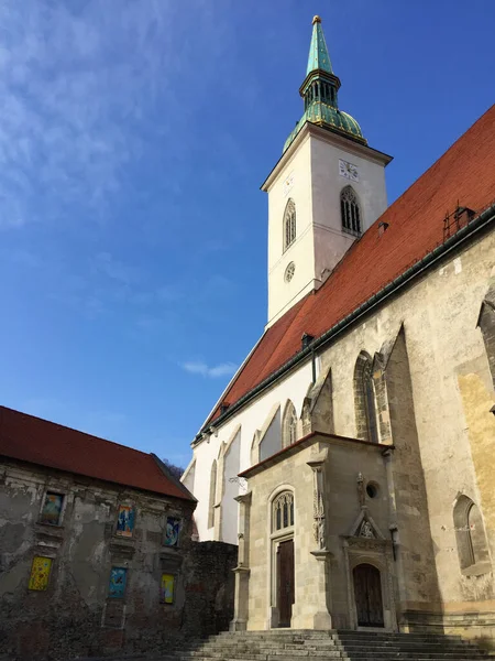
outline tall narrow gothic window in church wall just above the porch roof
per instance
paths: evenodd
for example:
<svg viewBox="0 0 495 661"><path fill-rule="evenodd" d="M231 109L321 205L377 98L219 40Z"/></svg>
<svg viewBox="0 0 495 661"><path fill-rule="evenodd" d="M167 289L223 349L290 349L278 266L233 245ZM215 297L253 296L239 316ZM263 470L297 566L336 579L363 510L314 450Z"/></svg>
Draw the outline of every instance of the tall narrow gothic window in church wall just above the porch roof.
<svg viewBox="0 0 495 661"><path fill-rule="evenodd" d="M366 351L361 351L354 368L354 407L358 438L378 443L372 359Z"/></svg>

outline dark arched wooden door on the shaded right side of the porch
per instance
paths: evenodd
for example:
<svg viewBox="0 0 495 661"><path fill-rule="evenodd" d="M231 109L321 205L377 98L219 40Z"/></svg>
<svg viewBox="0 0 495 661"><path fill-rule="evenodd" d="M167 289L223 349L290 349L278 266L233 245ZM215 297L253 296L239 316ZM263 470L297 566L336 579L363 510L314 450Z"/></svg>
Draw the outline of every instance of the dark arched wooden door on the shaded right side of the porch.
<svg viewBox="0 0 495 661"><path fill-rule="evenodd" d="M371 564L354 567L354 599L359 627L383 627L382 578Z"/></svg>

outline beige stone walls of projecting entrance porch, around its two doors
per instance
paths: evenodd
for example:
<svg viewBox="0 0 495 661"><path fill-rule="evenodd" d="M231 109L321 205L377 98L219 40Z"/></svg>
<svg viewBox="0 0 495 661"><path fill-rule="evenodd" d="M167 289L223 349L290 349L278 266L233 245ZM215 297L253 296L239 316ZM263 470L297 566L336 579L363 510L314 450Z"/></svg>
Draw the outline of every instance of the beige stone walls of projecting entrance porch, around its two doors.
<svg viewBox="0 0 495 661"><path fill-rule="evenodd" d="M352 628L352 589L350 572L352 563L371 559L383 570L389 565L392 541L388 532L388 491L386 468L381 448L339 438L312 440L307 447L294 448L289 456L267 465L248 477L251 491L249 507L249 590L242 598L249 602L248 628L268 629L277 626L276 608L276 544L278 540L294 539L295 548L295 604L292 627L296 629L319 628L319 617L327 603L333 628ZM324 545L328 551L327 585L322 585L319 572L321 561L314 552L319 545L315 538L314 472L308 462L321 452L328 452L324 462ZM364 549L355 546L348 551L344 539L354 538L363 508L359 500L358 481L362 473L366 483L376 486L376 498L366 498L367 513L377 527L380 540L364 540ZM274 532L272 502L280 492L294 494L294 527ZM383 531L383 532L382 532ZM241 531L243 534L244 531ZM370 544L375 544L371 553ZM240 556L240 562L242 557ZM386 578L388 581L388 577ZM386 626L396 628L394 589L384 589Z"/></svg>

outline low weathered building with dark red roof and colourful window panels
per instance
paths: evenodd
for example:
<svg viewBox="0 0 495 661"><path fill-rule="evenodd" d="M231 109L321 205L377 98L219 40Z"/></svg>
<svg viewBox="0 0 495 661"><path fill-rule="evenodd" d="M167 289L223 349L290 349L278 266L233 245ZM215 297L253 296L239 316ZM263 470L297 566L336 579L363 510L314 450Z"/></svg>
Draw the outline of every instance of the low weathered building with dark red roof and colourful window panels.
<svg viewBox="0 0 495 661"><path fill-rule="evenodd" d="M2 652L161 653L224 628L237 549L195 543L195 506L155 455L0 407Z"/></svg>

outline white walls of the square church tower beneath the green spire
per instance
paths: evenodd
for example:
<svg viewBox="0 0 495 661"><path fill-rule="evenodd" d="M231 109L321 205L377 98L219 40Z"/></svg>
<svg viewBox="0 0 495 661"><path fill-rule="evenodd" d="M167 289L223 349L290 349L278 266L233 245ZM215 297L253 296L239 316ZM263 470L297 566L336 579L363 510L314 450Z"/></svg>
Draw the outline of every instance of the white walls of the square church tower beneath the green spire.
<svg viewBox="0 0 495 661"><path fill-rule="evenodd" d="M345 186L356 194L362 231L386 209L389 161L381 152L306 123L263 185L268 193L267 326L317 290L355 240L342 229L340 195ZM296 207L296 240L285 249L289 199ZM289 264L295 269L287 281Z"/></svg>

